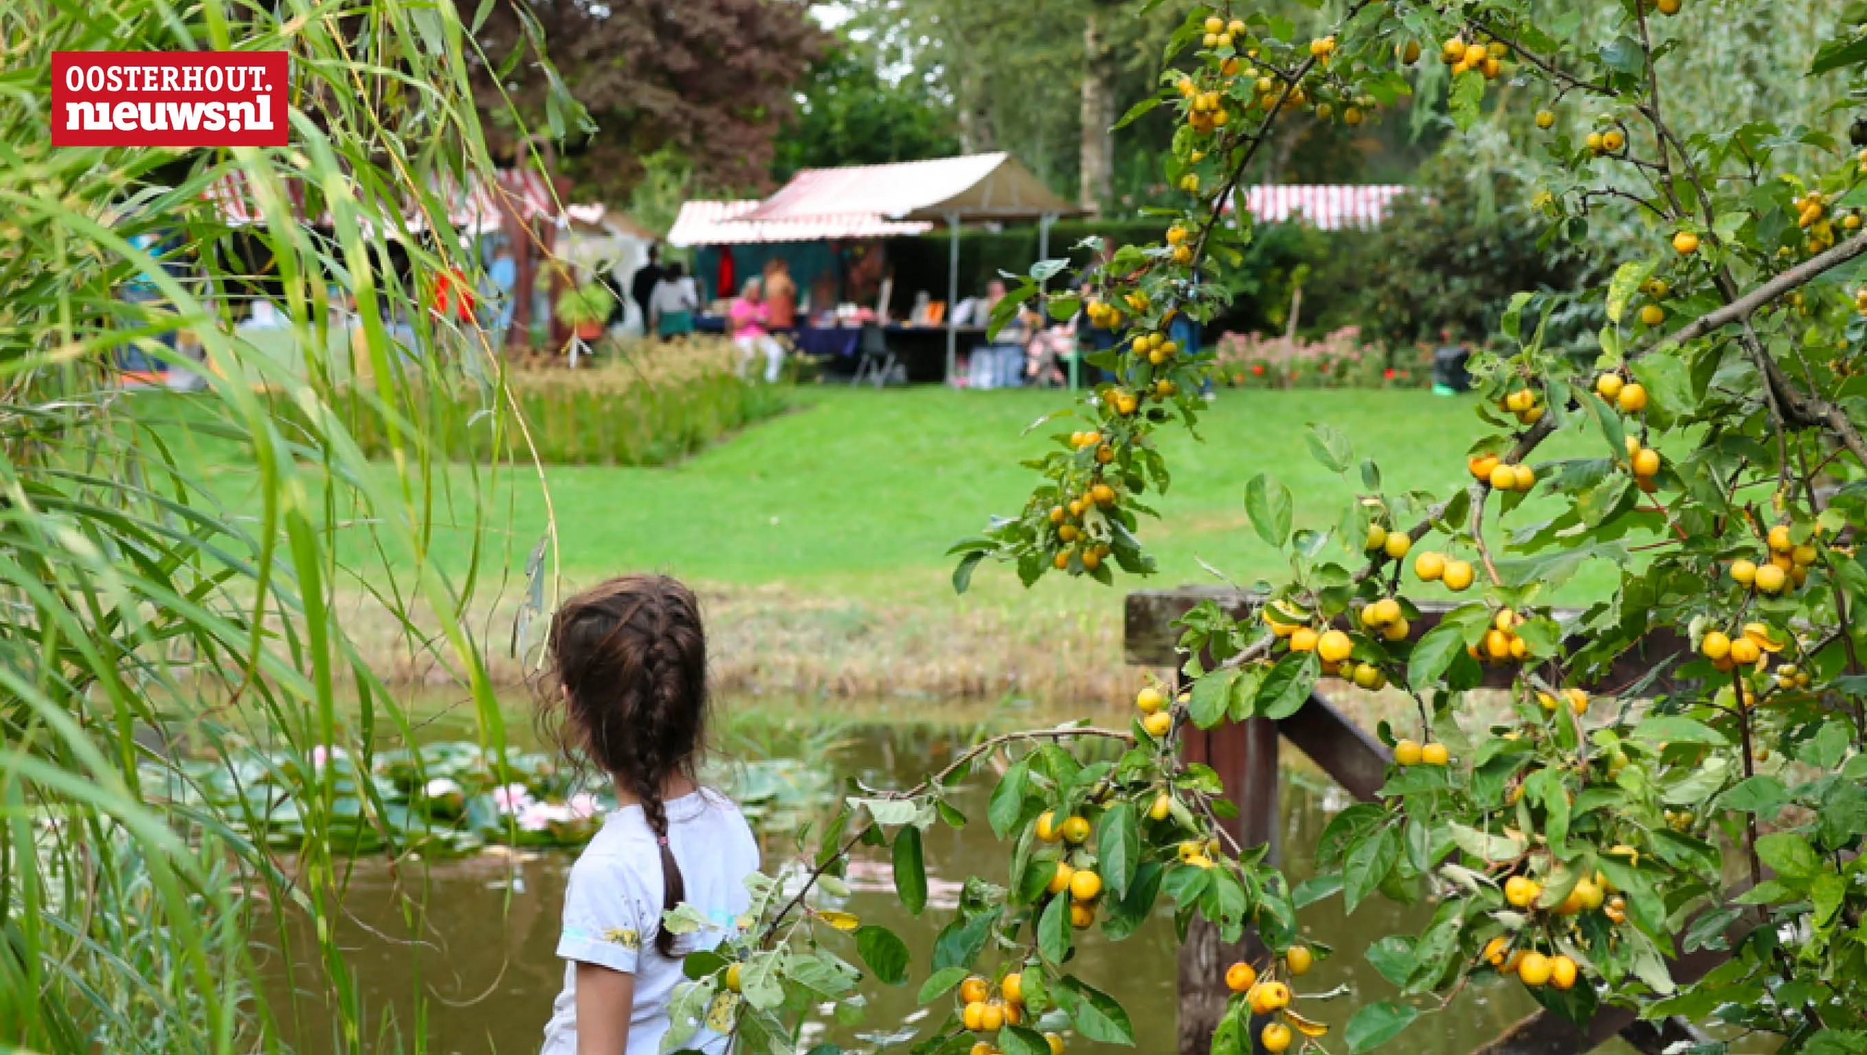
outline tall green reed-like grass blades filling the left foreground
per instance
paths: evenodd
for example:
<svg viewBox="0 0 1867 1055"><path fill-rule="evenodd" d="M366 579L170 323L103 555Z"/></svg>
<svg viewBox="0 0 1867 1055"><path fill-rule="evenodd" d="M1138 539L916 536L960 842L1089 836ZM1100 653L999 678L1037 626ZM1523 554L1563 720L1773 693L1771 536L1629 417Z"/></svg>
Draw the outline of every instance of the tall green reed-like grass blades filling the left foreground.
<svg viewBox="0 0 1867 1055"><path fill-rule="evenodd" d="M420 0L13 0L0 41L0 1049L232 1055L286 1051L316 1029L338 1051L385 1034L422 1051L418 1023L364 1006L336 939L357 810L330 767L297 799L289 846L246 835L260 799L177 801L151 784L187 786L190 758L254 745L317 773L319 747L368 760L379 730L407 734L336 614L344 592L386 612L373 633L452 672L476 738L502 756L504 715L461 618L482 555L446 568L431 555L441 508L487 525L474 495L497 467L446 493L424 484L424 437L446 420L433 392L470 392L495 433L523 428L485 334L424 310L435 274L474 267L442 189L493 166L469 86L472 26ZM52 52L202 49L289 52L289 148L50 148ZM579 120L564 97L553 114ZM261 222L233 228L207 202L232 174ZM329 230L299 220L293 187ZM144 235L175 245L179 265ZM407 269L385 267L392 243ZM144 295L125 297L131 284ZM235 338L256 289L302 362ZM392 340L394 319L413 336ZM330 340L351 321L368 388ZM177 331L205 362L166 345ZM250 472L250 508L224 504L215 467L177 457L133 413L129 349L202 372L190 415ZM394 366L409 351L413 366ZM388 469L345 422L379 431ZM405 618L416 605L433 614L420 635ZM340 723L340 691L355 726ZM263 986L265 945L316 990L316 1012Z"/></svg>

